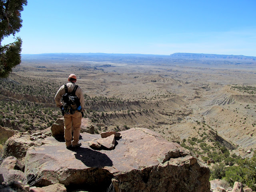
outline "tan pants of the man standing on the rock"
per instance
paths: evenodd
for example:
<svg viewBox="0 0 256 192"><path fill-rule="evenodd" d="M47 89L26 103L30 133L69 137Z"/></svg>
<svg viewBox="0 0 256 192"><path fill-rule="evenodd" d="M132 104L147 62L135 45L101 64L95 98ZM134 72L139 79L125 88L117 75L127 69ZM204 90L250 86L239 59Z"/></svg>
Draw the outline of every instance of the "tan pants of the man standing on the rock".
<svg viewBox="0 0 256 192"><path fill-rule="evenodd" d="M71 144L77 145L80 136L80 129L82 123L82 114L76 111L74 114L64 114L64 138L66 141L66 146ZM74 128L73 132L73 142L72 142L72 125Z"/></svg>

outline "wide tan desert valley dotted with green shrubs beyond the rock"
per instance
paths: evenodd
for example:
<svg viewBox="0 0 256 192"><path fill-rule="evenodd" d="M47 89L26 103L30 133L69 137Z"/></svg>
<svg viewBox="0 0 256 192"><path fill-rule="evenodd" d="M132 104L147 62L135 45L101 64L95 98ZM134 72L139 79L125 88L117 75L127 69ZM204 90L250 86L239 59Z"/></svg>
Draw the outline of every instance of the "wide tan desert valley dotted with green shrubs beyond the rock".
<svg viewBox="0 0 256 192"><path fill-rule="evenodd" d="M95 133L149 128L207 163L212 179L255 189L255 69L25 58L0 81L0 125L20 132L50 127L62 117L54 96L70 73L84 92L84 118L100 125Z"/></svg>

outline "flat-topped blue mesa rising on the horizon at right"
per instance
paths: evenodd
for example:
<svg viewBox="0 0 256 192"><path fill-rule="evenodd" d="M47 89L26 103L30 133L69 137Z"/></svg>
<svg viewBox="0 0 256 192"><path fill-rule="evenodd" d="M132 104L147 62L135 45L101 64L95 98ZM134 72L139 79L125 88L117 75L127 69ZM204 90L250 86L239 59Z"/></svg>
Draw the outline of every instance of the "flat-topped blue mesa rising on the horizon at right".
<svg viewBox="0 0 256 192"><path fill-rule="evenodd" d="M244 55L217 55L217 54L203 54L203 53L174 53L170 54L172 58L190 58L190 59L200 59L200 58L210 58L210 59L243 59L243 60L256 60L253 56Z"/></svg>

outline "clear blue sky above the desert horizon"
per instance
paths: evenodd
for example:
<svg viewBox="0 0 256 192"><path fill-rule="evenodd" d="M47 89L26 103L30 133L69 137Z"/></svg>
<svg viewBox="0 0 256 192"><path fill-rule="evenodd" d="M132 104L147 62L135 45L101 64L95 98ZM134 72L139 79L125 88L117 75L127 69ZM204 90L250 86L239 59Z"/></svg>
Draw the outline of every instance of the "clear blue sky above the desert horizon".
<svg viewBox="0 0 256 192"><path fill-rule="evenodd" d="M22 54L256 56L255 8L255 0L28 0L17 36Z"/></svg>

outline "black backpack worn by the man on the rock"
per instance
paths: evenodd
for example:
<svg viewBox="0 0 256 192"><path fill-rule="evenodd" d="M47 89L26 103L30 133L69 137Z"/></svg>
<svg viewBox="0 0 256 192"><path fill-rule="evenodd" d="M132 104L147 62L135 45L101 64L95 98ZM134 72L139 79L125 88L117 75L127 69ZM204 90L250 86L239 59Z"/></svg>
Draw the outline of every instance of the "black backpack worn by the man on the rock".
<svg viewBox="0 0 256 192"><path fill-rule="evenodd" d="M78 96L76 96L76 89L78 88L78 85L76 85L73 89L73 91L71 93L68 92L68 87L65 84L65 94L62 95L62 104L63 104L63 108L64 108L64 112L66 114L74 114L76 110L78 111L82 111L81 108L81 103L80 100L78 98Z"/></svg>

